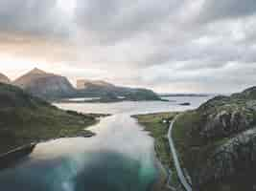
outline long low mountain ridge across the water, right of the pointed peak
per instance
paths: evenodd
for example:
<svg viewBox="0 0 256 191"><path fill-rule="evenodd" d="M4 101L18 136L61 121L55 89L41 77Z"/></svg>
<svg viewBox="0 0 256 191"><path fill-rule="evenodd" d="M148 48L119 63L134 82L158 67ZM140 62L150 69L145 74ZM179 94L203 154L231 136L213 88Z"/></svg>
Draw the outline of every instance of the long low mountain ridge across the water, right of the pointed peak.
<svg viewBox="0 0 256 191"><path fill-rule="evenodd" d="M151 90L116 86L102 80L80 80L78 88L80 96L101 97L101 101L160 100Z"/></svg>

